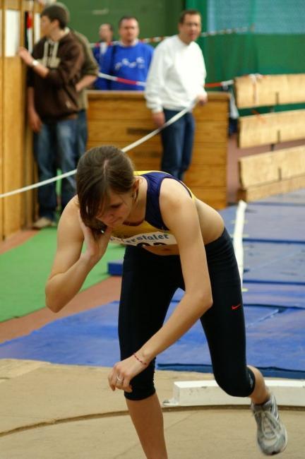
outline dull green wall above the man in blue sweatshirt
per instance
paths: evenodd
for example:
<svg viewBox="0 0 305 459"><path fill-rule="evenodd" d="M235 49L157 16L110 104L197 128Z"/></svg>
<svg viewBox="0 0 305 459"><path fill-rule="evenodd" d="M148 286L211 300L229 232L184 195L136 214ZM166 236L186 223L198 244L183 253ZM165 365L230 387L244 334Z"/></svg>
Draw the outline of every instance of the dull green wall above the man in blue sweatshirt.
<svg viewBox="0 0 305 459"><path fill-rule="evenodd" d="M82 32L90 42L98 41L101 23L114 25L121 16L136 16L140 23L140 37L173 35L177 32L179 14L184 0L64 0L71 14L70 25Z"/></svg>

